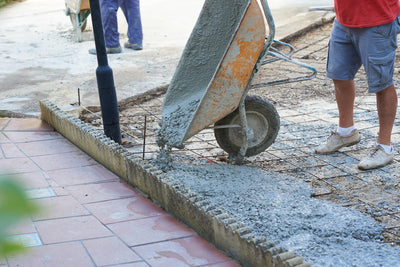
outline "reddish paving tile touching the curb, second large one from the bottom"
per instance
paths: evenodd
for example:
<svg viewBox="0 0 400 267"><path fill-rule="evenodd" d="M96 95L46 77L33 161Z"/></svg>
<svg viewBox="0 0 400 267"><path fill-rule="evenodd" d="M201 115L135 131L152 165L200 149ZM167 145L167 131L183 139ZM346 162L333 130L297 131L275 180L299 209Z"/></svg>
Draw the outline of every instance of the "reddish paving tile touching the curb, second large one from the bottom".
<svg viewBox="0 0 400 267"><path fill-rule="evenodd" d="M138 246L196 235L170 215L107 225L129 246Z"/></svg>

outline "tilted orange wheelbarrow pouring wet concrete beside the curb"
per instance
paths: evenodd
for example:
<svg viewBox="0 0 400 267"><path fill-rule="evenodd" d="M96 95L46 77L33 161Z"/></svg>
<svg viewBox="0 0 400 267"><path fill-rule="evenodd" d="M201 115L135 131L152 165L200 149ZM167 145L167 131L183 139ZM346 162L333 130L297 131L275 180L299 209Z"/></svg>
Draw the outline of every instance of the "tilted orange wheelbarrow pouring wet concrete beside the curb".
<svg viewBox="0 0 400 267"><path fill-rule="evenodd" d="M158 145L183 148L184 141L212 126L231 162L266 150L280 118L273 104L247 96L250 88L312 79L313 67L291 58L294 48L274 41L275 25L266 0L206 0L165 95ZM266 34L268 25L268 35ZM271 47L291 48L288 54ZM266 54L273 58L265 61ZM252 85L261 65L286 60L312 74Z"/></svg>

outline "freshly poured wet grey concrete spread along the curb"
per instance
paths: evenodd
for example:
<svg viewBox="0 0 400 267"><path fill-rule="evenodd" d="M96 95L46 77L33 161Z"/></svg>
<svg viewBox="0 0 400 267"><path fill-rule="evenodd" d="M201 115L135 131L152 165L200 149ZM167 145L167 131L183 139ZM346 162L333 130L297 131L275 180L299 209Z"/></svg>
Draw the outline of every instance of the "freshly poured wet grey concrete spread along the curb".
<svg viewBox="0 0 400 267"><path fill-rule="evenodd" d="M190 158L175 162L167 172L171 177L313 266L400 263L399 247L380 244L382 225L354 209L312 198L312 188L302 180Z"/></svg>

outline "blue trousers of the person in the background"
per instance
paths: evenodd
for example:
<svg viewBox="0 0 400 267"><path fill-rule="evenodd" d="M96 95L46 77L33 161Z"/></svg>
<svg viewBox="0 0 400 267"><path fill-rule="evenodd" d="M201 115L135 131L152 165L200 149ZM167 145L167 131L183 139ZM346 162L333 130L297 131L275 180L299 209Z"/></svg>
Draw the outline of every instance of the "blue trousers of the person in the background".
<svg viewBox="0 0 400 267"><path fill-rule="evenodd" d="M142 44L143 31L140 18L139 0L100 0L106 47L119 47L117 11L121 7L128 23L128 39L130 43Z"/></svg>

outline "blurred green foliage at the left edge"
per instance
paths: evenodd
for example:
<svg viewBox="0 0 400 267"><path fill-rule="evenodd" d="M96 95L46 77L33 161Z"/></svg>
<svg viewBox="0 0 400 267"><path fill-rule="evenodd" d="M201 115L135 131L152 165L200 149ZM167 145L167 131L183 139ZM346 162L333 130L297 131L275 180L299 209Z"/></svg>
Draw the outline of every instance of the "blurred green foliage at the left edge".
<svg viewBox="0 0 400 267"><path fill-rule="evenodd" d="M22 244L7 236L7 231L37 211L15 178L0 174L0 258L23 250Z"/></svg>

